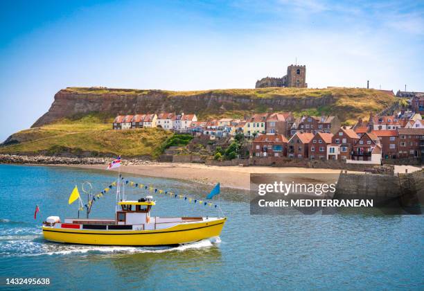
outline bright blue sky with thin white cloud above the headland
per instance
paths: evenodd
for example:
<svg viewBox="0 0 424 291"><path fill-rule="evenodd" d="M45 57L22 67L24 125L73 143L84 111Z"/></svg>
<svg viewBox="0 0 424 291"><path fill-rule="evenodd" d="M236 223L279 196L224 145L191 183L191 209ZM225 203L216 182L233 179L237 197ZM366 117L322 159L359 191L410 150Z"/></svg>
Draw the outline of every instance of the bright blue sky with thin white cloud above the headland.
<svg viewBox="0 0 424 291"><path fill-rule="evenodd" d="M424 1L0 1L0 141L65 87L424 91Z"/></svg>

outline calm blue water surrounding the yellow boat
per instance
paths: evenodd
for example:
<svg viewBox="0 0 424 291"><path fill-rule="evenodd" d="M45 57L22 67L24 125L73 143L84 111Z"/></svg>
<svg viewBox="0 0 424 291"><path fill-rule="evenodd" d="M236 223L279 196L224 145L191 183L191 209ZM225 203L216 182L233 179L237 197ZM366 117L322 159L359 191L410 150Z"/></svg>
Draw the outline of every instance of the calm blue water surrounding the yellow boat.
<svg viewBox="0 0 424 291"><path fill-rule="evenodd" d="M127 176L204 197L211 187ZM0 165L0 289L10 277L48 277L50 288L409 289L424 286L423 216L250 215L247 193L222 189L228 222L221 243L184 247L90 247L48 243L41 219L76 215L73 186L97 191L115 175L91 170ZM112 191L111 191L112 192ZM128 199L140 193L127 191ZM216 215L213 208L155 195L152 215ZM34 220L35 204L41 218ZM114 195L92 218L113 217ZM40 287L43 288L43 287Z"/></svg>

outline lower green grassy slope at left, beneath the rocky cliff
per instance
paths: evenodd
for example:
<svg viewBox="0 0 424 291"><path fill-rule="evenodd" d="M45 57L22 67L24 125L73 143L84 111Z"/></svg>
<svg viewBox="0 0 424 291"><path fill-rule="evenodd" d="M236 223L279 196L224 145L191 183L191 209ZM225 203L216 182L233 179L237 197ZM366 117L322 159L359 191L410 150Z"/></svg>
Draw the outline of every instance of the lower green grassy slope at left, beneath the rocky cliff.
<svg viewBox="0 0 424 291"><path fill-rule="evenodd" d="M123 155L157 157L161 147L173 133L157 128L112 130L112 123L100 123L91 114L80 119L66 119L43 127L14 134L19 143L0 148L1 153L42 153L58 155Z"/></svg>

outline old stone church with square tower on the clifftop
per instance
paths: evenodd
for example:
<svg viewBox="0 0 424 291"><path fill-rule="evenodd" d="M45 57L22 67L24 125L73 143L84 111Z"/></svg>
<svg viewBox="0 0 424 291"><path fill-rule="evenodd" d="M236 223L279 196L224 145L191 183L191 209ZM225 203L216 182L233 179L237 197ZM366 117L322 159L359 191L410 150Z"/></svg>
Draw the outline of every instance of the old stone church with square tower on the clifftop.
<svg viewBox="0 0 424 291"><path fill-rule="evenodd" d="M255 88L267 87L297 87L307 88L306 83L306 66L290 65L287 67L287 75L282 78L267 77L256 81Z"/></svg>

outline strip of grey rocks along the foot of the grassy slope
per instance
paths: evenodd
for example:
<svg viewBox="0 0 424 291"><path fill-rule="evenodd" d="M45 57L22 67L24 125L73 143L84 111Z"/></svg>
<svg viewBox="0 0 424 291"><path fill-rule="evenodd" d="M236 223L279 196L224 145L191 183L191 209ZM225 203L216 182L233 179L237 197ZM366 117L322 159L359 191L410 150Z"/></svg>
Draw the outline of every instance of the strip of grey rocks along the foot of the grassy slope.
<svg viewBox="0 0 424 291"><path fill-rule="evenodd" d="M113 159L107 157L52 157L44 155L0 155L0 164L43 164L43 165L107 165ZM146 165L150 161L125 159L124 165Z"/></svg>

